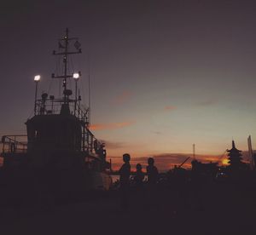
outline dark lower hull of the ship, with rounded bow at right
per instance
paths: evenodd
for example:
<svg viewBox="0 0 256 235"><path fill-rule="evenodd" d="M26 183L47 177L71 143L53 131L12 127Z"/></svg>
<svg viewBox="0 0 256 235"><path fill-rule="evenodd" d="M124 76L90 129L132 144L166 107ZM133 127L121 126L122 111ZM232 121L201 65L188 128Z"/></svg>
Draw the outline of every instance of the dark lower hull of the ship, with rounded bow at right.
<svg viewBox="0 0 256 235"><path fill-rule="evenodd" d="M49 161L39 167L30 160L38 156L8 153L3 154L3 157L4 163L0 169L3 193L0 198L9 204L83 200L91 192L108 191L112 185L112 178L107 171L88 169L86 164ZM69 157L74 158L73 155Z"/></svg>

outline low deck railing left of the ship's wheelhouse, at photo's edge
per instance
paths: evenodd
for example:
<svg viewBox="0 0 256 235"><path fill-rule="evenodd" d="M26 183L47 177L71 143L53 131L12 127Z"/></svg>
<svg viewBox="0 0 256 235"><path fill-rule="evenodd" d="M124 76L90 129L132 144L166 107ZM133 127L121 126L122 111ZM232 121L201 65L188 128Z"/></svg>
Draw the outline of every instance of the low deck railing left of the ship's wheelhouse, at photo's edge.
<svg viewBox="0 0 256 235"><path fill-rule="evenodd" d="M27 135L3 135L2 153L25 153L27 150Z"/></svg>

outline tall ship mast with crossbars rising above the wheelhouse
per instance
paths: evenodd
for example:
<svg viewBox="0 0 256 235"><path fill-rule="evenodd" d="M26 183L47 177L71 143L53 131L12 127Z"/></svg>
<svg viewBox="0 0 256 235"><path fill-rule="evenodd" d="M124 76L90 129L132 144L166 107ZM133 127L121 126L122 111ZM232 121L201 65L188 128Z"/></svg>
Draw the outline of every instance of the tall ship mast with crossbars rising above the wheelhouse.
<svg viewBox="0 0 256 235"><path fill-rule="evenodd" d="M76 51L69 51L68 50L69 42L72 41L72 40L75 40L74 48L76 49ZM68 103L68 95L71 95L67 92L67 78L73 77L73 74L68 74L67 73L68 55L82 53L82 49L80 49L80 46L81 45L78 41L78 37L69 37L68 28L67 28L65 37L59 39L59 52L56 53L55 50L53 51L54 55L63 55L64 74L55 76L55 74L53 73L51 75L51 77L52 78L62 78L63 79L62 86L63 86L64 104ZM81 76L81 72L79 72L79 76ZM77 101L77 97L75 97L75 99Z"/></svg>

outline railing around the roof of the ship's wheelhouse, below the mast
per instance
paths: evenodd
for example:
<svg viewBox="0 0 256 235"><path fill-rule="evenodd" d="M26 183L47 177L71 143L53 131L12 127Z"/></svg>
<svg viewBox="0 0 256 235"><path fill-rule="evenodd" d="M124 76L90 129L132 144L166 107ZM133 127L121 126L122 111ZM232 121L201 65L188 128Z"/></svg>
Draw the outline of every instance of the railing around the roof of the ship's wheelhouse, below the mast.
<svg viewBox="0 0 256 235"><path fill-rule="evenodd" d="M67 100L70 113L80 120L88 119L89 108L85 108L76 100ZM35 115L60 114L61 106L64 103L62 99L36 100Z"/></svg>

